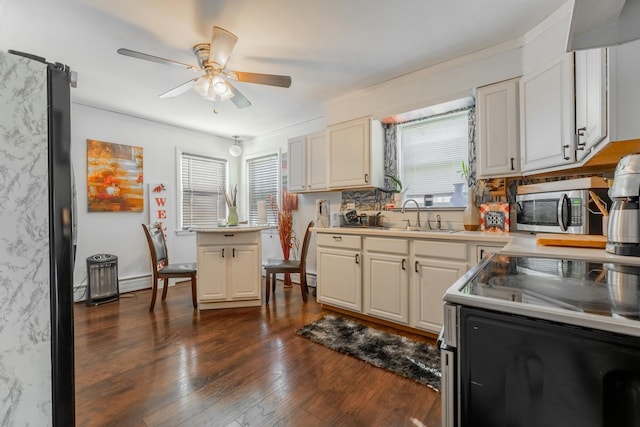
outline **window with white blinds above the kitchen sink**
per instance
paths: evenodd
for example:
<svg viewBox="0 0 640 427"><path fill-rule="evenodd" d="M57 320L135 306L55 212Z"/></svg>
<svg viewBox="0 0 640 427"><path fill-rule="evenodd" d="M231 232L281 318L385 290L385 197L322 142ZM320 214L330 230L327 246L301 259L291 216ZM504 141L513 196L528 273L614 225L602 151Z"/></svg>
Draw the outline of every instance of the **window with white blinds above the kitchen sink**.
<svg viewBox="0 0 640 427"><path fill-rule="evenodd" d="M451 206L454 185L464 181L468 162L469 111L458 111L398 125L400 176L408 199L422 204L433 194L434 206Z"/></svg>

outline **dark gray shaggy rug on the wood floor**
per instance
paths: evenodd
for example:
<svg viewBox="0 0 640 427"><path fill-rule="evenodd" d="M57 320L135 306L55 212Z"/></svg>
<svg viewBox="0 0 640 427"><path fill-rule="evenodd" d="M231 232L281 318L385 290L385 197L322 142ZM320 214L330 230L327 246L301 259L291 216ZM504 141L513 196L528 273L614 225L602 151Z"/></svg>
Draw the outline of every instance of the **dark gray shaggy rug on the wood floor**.
<svg viewBox="0 0 640 427"><path fill-rule="evenodd" d="M440 351L432 345L328 315L296 331L332 350L440 390Z"/></svg>

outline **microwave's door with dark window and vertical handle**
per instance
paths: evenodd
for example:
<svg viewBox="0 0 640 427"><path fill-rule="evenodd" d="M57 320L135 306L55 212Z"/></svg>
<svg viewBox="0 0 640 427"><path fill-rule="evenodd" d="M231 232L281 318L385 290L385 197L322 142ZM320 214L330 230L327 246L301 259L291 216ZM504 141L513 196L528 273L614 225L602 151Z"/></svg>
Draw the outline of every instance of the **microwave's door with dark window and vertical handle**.
<svg viewBox="0 0 640 427"><path fill-rule="evenodd" d="M581 199L566 192L516 196L517 229L548 233L567 232L572 224L572 204ZM577 207L577 206L576 206Z"/></svg>

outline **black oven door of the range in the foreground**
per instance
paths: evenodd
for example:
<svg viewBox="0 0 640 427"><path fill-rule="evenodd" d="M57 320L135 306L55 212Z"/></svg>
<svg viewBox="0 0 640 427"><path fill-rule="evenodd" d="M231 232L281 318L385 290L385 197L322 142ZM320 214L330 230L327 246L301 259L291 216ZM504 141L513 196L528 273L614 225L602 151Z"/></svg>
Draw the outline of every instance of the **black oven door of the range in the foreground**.
<svg viewBox="0 0 640 427"><path fill-rule="evenodd" d="M459 313L461 426L640 425L637 337L475 308Z"/></svg>

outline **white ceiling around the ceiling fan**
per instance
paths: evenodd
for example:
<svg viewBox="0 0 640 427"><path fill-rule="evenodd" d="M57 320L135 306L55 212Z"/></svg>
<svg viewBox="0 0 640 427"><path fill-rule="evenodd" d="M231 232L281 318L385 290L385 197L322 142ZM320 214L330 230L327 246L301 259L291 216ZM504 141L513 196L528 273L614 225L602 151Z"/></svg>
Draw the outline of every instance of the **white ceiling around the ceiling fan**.
<svg viewBox="0 0 640 427"><path fill-rule="evenodd" d="M327 100L523 35L566 0L0 0L0 50L78 72L73 101L243 140L324 116ZM192 71L116 53L126 47L197 65L211 28L239 38L227 69L284 74L288 89L236 83L252 106L188 91ZM401 113L401 112L398 112Z"/></svg>

